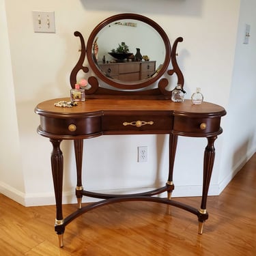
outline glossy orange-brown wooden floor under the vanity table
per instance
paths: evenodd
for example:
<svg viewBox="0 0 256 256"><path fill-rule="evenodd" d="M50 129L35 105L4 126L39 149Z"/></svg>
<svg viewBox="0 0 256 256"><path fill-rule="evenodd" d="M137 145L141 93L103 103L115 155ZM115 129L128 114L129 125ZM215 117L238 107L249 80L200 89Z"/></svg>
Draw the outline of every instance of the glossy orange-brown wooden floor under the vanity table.
<svg viewBox="0 0 256 256"><path fill-rule="evenodd" d="M198 197L177 199L199 208ZM107 205L66 227L64 247L54 231L55 206L25 208L0 194L0 255L256 255L256 154L218 197L209 219L160 203ZM64 205L68 214L76 205ZM171 212L171 214L170 214ZM182 217L181 217L182 215Z"/></svg>

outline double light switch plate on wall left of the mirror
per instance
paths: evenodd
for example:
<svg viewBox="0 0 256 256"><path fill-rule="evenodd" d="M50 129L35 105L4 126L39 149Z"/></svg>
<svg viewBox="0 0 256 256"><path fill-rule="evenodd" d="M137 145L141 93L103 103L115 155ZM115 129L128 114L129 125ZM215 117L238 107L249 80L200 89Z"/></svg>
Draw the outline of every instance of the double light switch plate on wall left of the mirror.
<svg viewBox="0 0 256 256"><path fill-rule="evenodd" d="M55 33L55 14L52 11L33 11L35 33Z"/></svg>

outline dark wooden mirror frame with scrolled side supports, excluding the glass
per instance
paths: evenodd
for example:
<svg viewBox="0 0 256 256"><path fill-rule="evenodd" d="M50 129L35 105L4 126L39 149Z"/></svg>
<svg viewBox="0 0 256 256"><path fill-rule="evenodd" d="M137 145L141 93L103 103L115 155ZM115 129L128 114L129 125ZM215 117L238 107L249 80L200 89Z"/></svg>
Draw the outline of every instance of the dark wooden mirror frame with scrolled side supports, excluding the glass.
<svg viewBox="0 0 256 256"><path fill-rule="evenodd" d="M165 45L165 61L162 63L162 68L156 74L156 76L152 76L150 79L144 79L141 81L132 81L132 82L123 82L120 80L115 79L109 79L107 76L104 75L103 72L100 71L96 63L94 62L94 57L92 55L92 48L94 44L94 40L98 33L103 29L104 27L108 26L109 24L117 21L117 20L123 20L123 19L132 19L132 20L139 20L143 23L146 23L147 25L150 25L153 27L160 35L160 37L163 40L163 43ZM158 25L154 20L151 20L150 18L147 18L145 16L142 16L140 14L132 14L132 13L125 13L125 14L116 14L114 16L111 16L109 18L106 18L101 23L99 23L94 30L89 35L88 41L87 41L87 48L85 47L85 40L83 38L83 35L79 31L75 31L74 35L76 37L80 38L81 41L81 49L79 50L81 52L81 55L79 57L79 61L76 63L76 66L74 66L71 74L70 74L70 85L72 88L74 88L76 84L76 76L80 70L83 70L83 72L87 73L89 72L89 68L94 72L96 76L89 76L88 82L90 85L90 88L86 89L86 98L109 98L109 97L132 97L132 98L157 98L157 99L170 99L171 98L171 91L167 89L167 86L169 85L168 79L165 77L161 78L163 74L167 71L167 74L177 75L177 84L180 84L182 86L182 89L184 87L184 76L182 74L182 71L180 70L179 66L177 65L176 60L176 49L178 42L182 42L183 38L177 38L175 42L173 43L173 47L171 48L171 44L169 42L169 38L165 31ZM85 55L87 54L87 60L89 63L89 68L86 66L83 66L83 63L85 61ZM171 70L167 70L169 63L172 63ZM113 89L105 88L100 86L100 81L103 81L106 83L106 85L109 85ZM158 87L151 88L151 89L145 89L146 87L150 87L150 85L154 84L158 81Z"/></svg>

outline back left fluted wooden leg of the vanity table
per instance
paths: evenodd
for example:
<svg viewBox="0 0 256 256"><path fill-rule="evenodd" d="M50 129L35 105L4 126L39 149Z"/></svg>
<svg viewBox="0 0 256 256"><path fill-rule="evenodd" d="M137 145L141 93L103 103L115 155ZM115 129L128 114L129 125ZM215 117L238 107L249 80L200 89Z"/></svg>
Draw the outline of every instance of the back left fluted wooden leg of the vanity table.
<svg viewBox="0 0 256 256"><path fill-rule="evenodd" d="M76 156L76 199L79 209L82 208L82 163L83 163L83 139L74 140L74 154Z"/></svg>

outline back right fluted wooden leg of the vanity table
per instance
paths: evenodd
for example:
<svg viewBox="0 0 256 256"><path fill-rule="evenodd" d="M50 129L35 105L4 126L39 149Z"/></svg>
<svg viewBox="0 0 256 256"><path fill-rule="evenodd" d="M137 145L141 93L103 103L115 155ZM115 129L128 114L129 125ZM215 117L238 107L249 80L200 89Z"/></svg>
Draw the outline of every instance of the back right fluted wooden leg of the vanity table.
<svg viewBox="0 0 256 256"><path fill-rule="evenodd" d="M171 200L171 193L174 189L173 184L173 167L174 167L174 160L177 148L177 135L169 134L169 176L167 180L167 186L169 189L167 190L167 197Z"/></svg>

